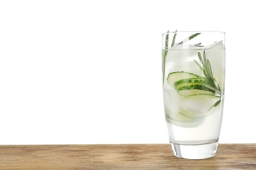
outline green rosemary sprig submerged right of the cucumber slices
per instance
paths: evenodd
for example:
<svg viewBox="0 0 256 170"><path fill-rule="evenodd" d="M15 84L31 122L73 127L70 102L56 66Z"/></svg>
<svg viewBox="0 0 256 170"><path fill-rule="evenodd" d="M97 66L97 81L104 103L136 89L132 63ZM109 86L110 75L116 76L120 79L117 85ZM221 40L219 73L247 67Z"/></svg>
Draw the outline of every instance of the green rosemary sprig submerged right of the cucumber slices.
<svg viewBox="0 0 256 170"><path fill-rule="evenodd" d="M210 90L213 90L215 93L218 94L218 97L221 97L221 95L222 95L221 87L217 83L216 79L213 77L211 63L210 63L209 59L206 58L205 50L203 50L203 58L202 58L201 53L198 52L198 58L200 59L202 66L196 60L195 60L195 62L200 66L200 68L203 71L204 77L202 77L202 78L205 82L205 84L203 84L203 86L205 86L206 88L209 88ZM213 107L217 107L217 105L219 105L219 103L221 103L221 99L219 99L219 101L217 101L213 105Z"/></svg>

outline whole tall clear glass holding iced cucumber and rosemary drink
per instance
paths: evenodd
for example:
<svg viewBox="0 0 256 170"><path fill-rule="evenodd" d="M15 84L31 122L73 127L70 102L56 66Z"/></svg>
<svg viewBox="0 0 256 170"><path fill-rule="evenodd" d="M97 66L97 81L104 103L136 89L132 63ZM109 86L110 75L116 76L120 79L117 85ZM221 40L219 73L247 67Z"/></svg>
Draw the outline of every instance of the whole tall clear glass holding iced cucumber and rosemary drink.
<svg viewBox="0 0 256 170"><path fill-rule="evenodd" d="M162 34L165 120L173 154L179 158L211 158L217 150L224 104L224 35Z"/></svg>

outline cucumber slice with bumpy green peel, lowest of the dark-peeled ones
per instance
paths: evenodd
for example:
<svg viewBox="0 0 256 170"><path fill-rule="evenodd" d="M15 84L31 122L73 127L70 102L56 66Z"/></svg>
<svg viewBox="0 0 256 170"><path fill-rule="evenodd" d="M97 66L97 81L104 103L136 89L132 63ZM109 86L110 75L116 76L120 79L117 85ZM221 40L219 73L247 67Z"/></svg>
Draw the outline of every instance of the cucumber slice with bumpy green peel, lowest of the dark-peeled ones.
<svg viewBox="0 0 256 170"><path fill-rule="evenodd" d="M179 95L188 96L188 95L213 95L215 92L206 88L202 84L190 84L188 86L181 86L177 92Z"/></svg>

